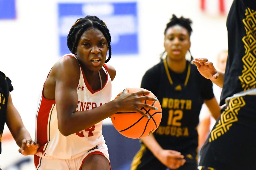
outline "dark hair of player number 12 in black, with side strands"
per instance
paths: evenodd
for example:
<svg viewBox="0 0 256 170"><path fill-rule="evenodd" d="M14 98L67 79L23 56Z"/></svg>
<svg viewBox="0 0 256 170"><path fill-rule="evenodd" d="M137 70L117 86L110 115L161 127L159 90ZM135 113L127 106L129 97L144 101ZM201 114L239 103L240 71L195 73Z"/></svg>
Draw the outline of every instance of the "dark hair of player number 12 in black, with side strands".
<svg viewBox="0 0 256 170"><path fill-rule="evenodd" d="M192 24L192 21L189 18L184 18L183 16L181 16L180 18L177 18L177 16L173 14L173 17L170 19L170 22L166 24L164 35L166 34L167 29L169 29L170 27L172 27L174 25L180 25L180 26L186 28L186 30L189 32L189 38L190 38L191 33L192 33L191 24ZM189 53L190 53L190 58L192 61L193 57L191 55L190 50L189 50ZM164 54L165 54L165 51L163 53L161 53L161 56L160 56L161 59Z"/></svg>

